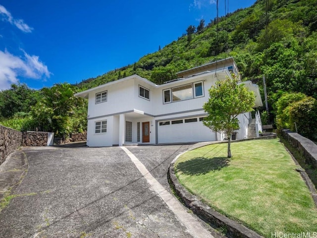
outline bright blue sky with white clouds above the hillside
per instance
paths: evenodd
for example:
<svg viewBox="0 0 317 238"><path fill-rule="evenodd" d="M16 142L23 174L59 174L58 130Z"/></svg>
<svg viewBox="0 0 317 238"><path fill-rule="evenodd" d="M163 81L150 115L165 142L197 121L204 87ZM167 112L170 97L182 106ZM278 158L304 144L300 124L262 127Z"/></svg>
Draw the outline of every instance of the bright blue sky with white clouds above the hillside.
<svg viewBox="0 0 317 238"><path fill-rule="evenodd" d="M133 64L200 19L209 23L215 1L1 0L0 90L76 83ZM229 12L255 2L227 1Z"/></svg>

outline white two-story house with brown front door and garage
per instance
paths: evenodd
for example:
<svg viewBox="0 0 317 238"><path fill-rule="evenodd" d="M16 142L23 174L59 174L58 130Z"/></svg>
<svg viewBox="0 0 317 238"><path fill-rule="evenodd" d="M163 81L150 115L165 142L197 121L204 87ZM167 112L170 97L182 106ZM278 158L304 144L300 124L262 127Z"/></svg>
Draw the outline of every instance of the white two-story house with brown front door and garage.
<svg viewBox="0 0 317 238"><path fill-rule="evenodd" d="M233 58L178 72L179 78L156 85L136 74L75 94L88 99L88 146L160 144L223 140L203 125L203 104L216 80L240 77ZM258 85L256 107L262 106ZM237 139L247 138L250 113L239 115Z"/></svg>

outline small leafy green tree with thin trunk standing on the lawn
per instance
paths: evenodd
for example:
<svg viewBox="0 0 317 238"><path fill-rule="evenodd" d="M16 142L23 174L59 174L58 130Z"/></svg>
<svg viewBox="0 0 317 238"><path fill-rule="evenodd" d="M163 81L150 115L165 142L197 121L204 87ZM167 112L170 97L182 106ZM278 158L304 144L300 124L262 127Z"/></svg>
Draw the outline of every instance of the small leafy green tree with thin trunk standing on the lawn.
<svg viewBox="0 0 317 238"><path fill-rule="evenodd" d="M255 95L243 84L238 84L234 77L218 80L209 89L209 100L203 106L208 114L203 120L204 125L216 132L225 133L228 138L228 158L231 158L231 135L238 130L239 114L253 111Z"/></svg>

